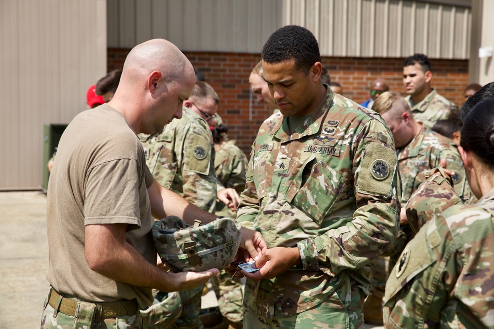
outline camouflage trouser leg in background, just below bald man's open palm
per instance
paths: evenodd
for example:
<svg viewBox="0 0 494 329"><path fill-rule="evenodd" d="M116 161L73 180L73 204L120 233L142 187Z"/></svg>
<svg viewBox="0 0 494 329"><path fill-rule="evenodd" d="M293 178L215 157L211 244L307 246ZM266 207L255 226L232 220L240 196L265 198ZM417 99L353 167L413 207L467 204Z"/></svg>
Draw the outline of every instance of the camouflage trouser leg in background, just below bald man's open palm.
<svg viewBox="0 0 494 329"><path fill-rule="evenodd" d="M244 320L244 306L242 305L242 279L232 277L225 270L211 278L211 285L216 298L221 315L233 323L242 323Z"/></svg>

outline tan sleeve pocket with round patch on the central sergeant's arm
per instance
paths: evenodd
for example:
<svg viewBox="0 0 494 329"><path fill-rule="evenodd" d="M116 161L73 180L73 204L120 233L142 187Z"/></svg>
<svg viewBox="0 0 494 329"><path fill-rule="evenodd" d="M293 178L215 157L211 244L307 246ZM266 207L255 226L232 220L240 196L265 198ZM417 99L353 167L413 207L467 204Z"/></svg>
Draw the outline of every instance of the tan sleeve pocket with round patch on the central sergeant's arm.
<svg viewBox="0 0 494 329"><path fill-rule="evenodd" d="M370 142L365 147L357 191L363 194L390 195L396 170L395 151L375 142Z"/></svg>

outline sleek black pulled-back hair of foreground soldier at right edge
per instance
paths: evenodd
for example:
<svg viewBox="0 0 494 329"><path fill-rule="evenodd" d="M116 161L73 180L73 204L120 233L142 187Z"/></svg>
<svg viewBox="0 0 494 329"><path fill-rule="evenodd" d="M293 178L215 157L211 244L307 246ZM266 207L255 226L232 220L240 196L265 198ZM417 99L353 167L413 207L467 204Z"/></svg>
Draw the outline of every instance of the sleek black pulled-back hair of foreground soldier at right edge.
<svg viewBox="0 0 494 329"><path fill-rule="evenodd" d="M494 98L478 103L465 117L460 146L494 168Z"/></svg>

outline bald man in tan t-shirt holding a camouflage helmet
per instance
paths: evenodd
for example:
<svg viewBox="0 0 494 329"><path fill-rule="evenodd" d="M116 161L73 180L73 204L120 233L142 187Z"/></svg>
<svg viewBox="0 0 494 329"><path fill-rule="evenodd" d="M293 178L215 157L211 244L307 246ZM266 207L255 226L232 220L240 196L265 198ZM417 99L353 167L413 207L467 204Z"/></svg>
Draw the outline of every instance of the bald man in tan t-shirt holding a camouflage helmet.
<svg viewBox="0 0 494 329"><path fill-rule="evenodd" d="M153 217L188 223L216 217L154 180L136 136L180 118L194 84L192 65L177 47L163 39L144 42L128 54L114 98L80 113L65 130L48 184L52 288L41 328L142 328L139 309L152 303L151 288L189 289L218 273L156 266ZM241 247L255 257L266 244L244 229Z"/></svg>

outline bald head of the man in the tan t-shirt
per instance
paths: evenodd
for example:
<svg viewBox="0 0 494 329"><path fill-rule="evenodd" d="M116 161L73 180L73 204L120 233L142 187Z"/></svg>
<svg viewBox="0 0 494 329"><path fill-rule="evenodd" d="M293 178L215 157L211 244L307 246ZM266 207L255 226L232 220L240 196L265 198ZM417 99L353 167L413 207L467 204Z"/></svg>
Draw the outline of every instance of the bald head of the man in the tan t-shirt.
<svg viewBox="0 0 494 329"><path fill-rule="evenodd" d="M182 104L196 82L194 68L173 43L153 39L127 55L114 98L108 103L124 114L138 133L163 131L182 117Z"/></svg>

